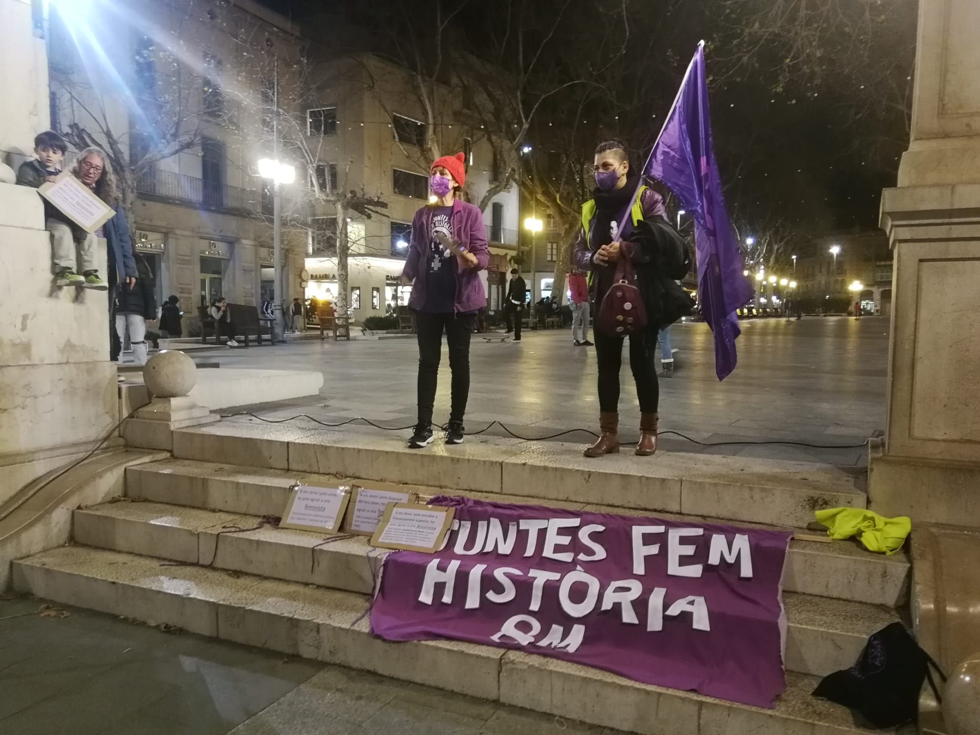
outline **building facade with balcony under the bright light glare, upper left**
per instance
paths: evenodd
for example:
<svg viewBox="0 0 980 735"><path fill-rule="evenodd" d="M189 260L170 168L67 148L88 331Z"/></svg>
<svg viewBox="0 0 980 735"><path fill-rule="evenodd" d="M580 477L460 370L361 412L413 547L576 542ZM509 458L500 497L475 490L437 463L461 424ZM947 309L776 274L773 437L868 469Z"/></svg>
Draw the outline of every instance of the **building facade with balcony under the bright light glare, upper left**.
<svg viewBox="0 0 980 735"><path fill-rule="evenodd" d="M300 34L252 0L130 5L100 18L52 6L51 125L74 133L75 149L87 137L133 167L136 254L158 303L176 295L194 334L196 309L218 297L271 298L270 184L257 163L273 148L270 94L298 83ZM158 160L140 167L147 156ZM296 218L283 230L286 298L299 292L306 230Z"/></svg>

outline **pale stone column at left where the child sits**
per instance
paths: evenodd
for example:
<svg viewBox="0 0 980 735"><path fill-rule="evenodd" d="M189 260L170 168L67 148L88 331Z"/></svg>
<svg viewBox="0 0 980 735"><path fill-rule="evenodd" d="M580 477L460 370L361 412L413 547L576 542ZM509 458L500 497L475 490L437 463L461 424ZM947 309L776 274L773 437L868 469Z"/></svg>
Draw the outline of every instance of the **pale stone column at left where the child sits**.
<svg viewBox="0 0 980 735"><path fill-rule="evenodd" d="M44 41L28 0L0 0L0 153L26 153L48 125ZM14 160L12 163L20 163ZM118 421L104 291L56 288L37 192L0 176L0 504L94 448ZM105 272L106 252L98 254Z"/></svg>

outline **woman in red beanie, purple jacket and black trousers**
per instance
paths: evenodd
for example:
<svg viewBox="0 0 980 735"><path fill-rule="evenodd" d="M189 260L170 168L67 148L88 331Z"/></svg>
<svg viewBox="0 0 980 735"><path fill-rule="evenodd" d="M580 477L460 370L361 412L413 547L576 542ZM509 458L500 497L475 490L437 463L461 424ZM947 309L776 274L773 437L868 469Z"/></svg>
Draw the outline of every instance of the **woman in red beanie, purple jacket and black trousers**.
<svg viewBox="0 0 980 735"><path fill-rule="evenodd" d="M402 281L413 283L409 308L416 313L418 338L418 421L411 449L432 441L432 406L439 376L442 333L449 343L453 373L452 408L446 444L462 444L463 415L469 397L469 337L476 313L487 297L477 270L486 269L486 227L479 208L461 201L457 192L466 183L466 156L443 156L433 162L429 188L434 204L422 207L412 221L412 242ZM447 249L436 237L455 243Z"/></svg>

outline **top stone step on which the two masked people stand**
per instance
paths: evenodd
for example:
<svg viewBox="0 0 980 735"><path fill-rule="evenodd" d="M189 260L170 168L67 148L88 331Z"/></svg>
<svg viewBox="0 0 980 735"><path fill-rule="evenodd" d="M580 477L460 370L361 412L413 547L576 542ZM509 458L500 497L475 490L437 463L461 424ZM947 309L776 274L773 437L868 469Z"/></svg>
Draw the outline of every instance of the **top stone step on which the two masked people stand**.
<svg viewBox="0 0 980 735"><path fill-rule="evenodd" d="M835 466L682 452L590 460L580 444L482 435L410 450L397 432L313 425L239 417L178 429L173 456L795 528L815 510L867 505L859 478Z"/></svg>

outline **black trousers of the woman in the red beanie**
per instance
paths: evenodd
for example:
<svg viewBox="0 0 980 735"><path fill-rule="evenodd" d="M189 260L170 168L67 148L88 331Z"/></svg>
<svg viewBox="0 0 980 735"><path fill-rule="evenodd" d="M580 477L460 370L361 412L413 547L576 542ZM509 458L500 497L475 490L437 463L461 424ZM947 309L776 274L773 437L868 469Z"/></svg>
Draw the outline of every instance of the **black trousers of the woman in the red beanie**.
<svg viewBox="0 0 980 735"><path fill-rule="evenodd" d="M435 389L442 358L442 332L449 343L449 368L453 373L451 421L463 421L469 397L469 337L473 316L416 313L418 337L418 422L431 425Z"/></svg>

